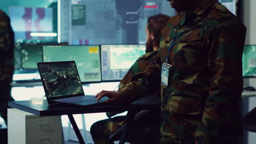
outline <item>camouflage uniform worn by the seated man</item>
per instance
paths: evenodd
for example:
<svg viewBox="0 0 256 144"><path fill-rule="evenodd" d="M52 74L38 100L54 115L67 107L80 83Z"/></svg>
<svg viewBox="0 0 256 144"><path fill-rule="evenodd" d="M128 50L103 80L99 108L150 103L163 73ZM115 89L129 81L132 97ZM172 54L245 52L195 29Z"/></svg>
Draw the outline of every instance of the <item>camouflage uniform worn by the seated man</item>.
<svg viewBox="0 0 256 144"><path fill-rule="evenodd" d="M127 83L130 83L134 79L132 77L134 74L144 71L146 67L150 63L152 63L152 58L157 54L158 50L155 50L139 57L137 61L132 65L130 70L127 72L127 74L124 76L124 78L120 81L118 91L120 91L126 86ZM152 95L160 97L160 90ZM114 115L117 115L118 113L121 112L107 112L106 114L109 119L98 121L92 125L90 131L95 144L113 143L113 141L108 140L108 137L112 135L115 131L117 131L118 128L120 128L126 122L125 116L110 118Z"/></svg>

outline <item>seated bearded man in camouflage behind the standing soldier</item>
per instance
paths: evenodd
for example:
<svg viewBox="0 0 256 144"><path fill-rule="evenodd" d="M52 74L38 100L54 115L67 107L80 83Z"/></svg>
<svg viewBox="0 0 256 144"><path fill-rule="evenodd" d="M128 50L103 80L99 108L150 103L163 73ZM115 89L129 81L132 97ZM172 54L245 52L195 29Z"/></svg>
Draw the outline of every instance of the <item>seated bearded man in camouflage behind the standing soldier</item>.
<svg viewBox="0 0 256 144"><path fill-rule="evenodd" d="M164 14L157 14L157 15L148 17L148 23L146 27L146 33L147 33L146 54L139 57L137 61L132 65L128 73L120 81L118 91L124 88L127 85L127 83L137 80L138 76L135 76L135 74L141 71L144 71L147 65L151 63L152 58L158 54L159 42L161 38L161 29L166 26L166 23L169 18L170 16L167 16ZM160 91L154 92L150 95L154 95L155 97L160 97ZM159 117L156 116L155 112L159 112ZM150 113L152 112L147 113L145 117L140 119L140 121L143 121L143 124L135 123L135 125L140 125L141 127L147 127L147 125L151 125L149 123L158 123L160 128L159 109L154 110L154 117L150 117L149 116ZM109 136L112 135L114 131L116 131L118 128L121 127L121 125L125 123L125 116L110 118L116 114L117 112L107 112L107 116L109 117L109 119L98 121L91 126L90 132L95 144L113 143L113 141L109 140ZM158 131L159 130L156 130L156 133L155 133L156 136L158 135ZM156 142L158 142L157 138L155 140ZM154 142L149 141L147 143L154 143Z"/></svg>

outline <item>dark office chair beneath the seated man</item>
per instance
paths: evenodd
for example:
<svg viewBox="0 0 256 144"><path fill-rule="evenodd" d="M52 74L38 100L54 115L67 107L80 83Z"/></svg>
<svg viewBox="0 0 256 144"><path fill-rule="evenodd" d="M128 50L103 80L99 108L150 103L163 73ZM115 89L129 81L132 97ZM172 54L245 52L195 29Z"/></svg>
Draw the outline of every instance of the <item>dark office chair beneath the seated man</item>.
<svg viewBox="0 0 256 144"><path fill-rule="evenodd" d="M130 143L158 143L160 130L160 109L142 110L137 113L127 113L127 122L109 136L109 140L123 139L123 133L127 133L124 142Z"/></svg>

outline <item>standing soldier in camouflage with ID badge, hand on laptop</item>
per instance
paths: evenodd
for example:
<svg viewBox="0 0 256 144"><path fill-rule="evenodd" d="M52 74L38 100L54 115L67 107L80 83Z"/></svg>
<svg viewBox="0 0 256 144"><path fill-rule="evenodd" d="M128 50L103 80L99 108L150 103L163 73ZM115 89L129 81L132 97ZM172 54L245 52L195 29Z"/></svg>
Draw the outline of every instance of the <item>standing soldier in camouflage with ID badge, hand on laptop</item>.
<svg viewBox="0 0 256 144"><path fill-rule="evenodd" d="M233 144L242 137L246 27L215 0L168 1L178 14L162 29L153 64L121 91L96 97L127 103L161 88L160 143Z"/></svg>

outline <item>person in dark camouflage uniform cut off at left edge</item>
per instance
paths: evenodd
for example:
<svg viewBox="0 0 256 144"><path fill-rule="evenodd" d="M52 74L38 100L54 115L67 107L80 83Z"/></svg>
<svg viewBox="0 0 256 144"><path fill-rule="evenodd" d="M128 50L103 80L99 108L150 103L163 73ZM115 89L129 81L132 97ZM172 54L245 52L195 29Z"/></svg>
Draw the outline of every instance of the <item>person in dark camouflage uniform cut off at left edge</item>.
<svg viewBox="0 0 256 144"><path fill-rule="evenodd" d="M10 26L10 19L0 10L0 114L7 123L8 101L11 97L10 83L14 73L14 33Z"/></svg>

